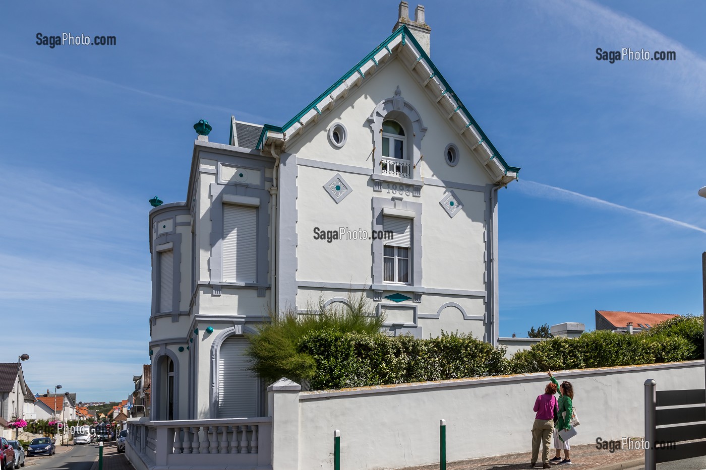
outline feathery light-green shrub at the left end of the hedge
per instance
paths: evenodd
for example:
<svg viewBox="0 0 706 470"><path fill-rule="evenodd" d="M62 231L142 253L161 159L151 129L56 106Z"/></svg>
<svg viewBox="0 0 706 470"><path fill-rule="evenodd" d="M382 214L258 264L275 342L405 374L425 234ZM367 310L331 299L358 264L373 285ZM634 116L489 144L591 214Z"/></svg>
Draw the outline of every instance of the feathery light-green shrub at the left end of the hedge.
<svg viewBox="0 0 706 470"><path fill-rule="evenodd" d="M251 370L270 382L282 377L306 380L313 377L316 361L311 354L298 350L302 337L311 332L381 335L384 315L368 313L371 308L364 294L349 294L347 300L347 304L324 306L323 299L319 299L317 305L309 305L313 315L299 315L293 309L270 314L271 323L260 325L255 334L247 335L250 346L246 354L253 360Z"/></svg>

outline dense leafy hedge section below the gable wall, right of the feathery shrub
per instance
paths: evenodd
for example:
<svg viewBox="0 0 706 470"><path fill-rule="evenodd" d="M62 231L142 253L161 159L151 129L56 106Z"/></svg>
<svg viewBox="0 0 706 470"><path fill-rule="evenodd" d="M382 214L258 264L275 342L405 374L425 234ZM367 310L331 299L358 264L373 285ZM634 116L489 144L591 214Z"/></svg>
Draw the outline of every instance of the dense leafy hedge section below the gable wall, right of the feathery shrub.
<svg viewBox="0 0 706 470"><path fill-rule="evenodd" d="M472 335L417 339L311 332L298 350L316 361L309 378L313 390L499 375L506 369L505 349Z"/></svg>

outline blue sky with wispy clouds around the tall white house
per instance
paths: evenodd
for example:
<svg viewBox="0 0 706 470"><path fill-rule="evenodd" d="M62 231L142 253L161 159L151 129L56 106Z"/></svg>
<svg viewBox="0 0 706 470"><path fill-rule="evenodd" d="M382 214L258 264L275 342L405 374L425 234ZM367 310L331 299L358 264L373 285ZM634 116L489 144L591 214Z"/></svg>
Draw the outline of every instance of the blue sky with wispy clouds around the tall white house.
<svg viewBox="0 0 706 470"><path fill-rule="evenodd" d="M706 4L424 4L436 66L522 167L500 192L501 335L590 329L596 309L701 313ZM184 200L193 123L221 143L231 114L284 123L396 18L397 1L6 4L0 361L30 354L35 392L126 397L148 361L147 200ZM597 47L677 59L609 64Z"/></svg>

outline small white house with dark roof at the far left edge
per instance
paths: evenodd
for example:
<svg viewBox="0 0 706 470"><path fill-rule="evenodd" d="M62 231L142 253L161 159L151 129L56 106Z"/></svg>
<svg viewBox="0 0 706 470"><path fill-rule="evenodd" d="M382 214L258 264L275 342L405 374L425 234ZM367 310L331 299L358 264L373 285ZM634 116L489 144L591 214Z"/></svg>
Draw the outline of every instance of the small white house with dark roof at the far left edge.
<svg viewBox="0 0 706 470"><path fill-rule="evenodd" d="M5 421L36 418L35 395L25 382L22 363L0 363L0 418ZM6 428L3 437L13 438L11 431Z"/></svg>

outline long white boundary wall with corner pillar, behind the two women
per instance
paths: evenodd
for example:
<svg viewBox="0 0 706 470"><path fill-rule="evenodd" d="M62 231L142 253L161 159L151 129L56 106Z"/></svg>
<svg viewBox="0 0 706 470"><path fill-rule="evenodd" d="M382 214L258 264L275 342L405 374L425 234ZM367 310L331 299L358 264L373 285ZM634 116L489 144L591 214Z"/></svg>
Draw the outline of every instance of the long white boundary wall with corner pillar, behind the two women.
<svg viewBox="0 0 706 470"><path fill-rule="evenodd" d="M555 373L574 385L581 425L572 443L644 435L644 382L657 390L704 386L704 361ZM395 469L438 462L438 424L446 420L448 462L530 450L534 399L546 373L299 392L270 387L275 470L333 468L333 431L341 431L341 469ZM286 388L286 390L285 390ZM281 390L281 391L280 391ZM273 400L272 395L282 395ZM299 436L292 435L299 428ZM279 459L278 459L279 456ZM288 462L280 467L278 462Z"/></svg>

